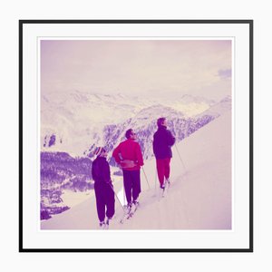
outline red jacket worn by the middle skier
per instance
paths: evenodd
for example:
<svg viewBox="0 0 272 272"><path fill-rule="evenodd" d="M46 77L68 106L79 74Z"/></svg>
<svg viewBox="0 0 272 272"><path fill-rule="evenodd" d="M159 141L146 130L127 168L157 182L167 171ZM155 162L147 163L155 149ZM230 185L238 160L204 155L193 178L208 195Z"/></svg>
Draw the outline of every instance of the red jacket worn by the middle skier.
<svg viewBox="0 0 272 272"><path fill-rule="evenodd" d="M140 144L131 139L122 141L112 152L112 157L120 164L122 160L133 160L135 162L136 165L134 167L126 168L125 170L140 170L143 165Z"/></svg>

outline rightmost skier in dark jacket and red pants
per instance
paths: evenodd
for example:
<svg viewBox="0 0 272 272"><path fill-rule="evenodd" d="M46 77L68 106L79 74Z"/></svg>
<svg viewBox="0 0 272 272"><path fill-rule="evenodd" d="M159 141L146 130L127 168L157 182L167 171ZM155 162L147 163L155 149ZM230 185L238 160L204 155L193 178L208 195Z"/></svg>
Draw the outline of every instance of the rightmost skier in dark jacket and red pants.
<svg viewBox="0 0 272 272"><path fill-rule="evenodd" d="M165 183L170 184L170 160L172 157L171 146L176 139L172 133L167 130L167 122L164 117L157 121L158 131L153 136L153 152L156 158L160 188L165 188Z"/></svg>

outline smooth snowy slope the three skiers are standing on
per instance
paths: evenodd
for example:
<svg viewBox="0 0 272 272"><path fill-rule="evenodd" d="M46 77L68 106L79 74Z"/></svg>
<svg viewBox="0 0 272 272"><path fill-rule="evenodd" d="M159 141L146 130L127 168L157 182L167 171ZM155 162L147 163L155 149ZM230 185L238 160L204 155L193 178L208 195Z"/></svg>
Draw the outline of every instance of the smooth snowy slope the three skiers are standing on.
<svg viewBox="0 0 272 272"><path fill-rule="evenodd" d="M155 183L155 161L145 162L144 170L151 189L141 173L141 207L131 220L119 223L122 209L115 201L112 229L230 229L231 221L231 112L209 122L173 147L171 187L159 199ZM114 177L113 177L114 179ZM158 180L157 180L158 182ZM116 191L121 181L114 182ZM119 194L122 201L122 193ZM83 203L53 219L42 221L42 229L97 229L95 199Z"/></svg>

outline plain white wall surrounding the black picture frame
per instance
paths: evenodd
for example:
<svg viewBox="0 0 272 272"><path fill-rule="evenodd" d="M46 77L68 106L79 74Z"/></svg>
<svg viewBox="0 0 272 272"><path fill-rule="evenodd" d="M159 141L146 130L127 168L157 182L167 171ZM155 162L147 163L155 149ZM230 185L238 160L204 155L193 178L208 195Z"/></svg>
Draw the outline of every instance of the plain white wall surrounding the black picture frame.
<svg viewBox="0 0 272 272"><path fill-rule="evenodd" d="M268 271L271 253L272 40L268 1L8 1L1 20L1 267L7 271L156 270ZM254 253L90 254L18 253L18 20L19 19L254 19L255 33L255 237ZM131 248L132 245L131 245ZM3 270L3 268L1 270Z"/></svg>

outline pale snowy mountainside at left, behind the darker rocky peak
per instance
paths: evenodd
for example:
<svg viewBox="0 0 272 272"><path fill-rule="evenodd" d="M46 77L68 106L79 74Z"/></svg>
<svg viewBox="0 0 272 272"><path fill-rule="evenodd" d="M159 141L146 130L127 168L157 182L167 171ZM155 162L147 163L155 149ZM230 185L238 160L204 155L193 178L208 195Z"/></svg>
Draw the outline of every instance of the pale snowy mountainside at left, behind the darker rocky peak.
<svg viewBox="0 0 272 272"><path fill-rule="evenodd" d="M90 142L102 141L107 123L124 121L143 105L121 95L52 92L41 99L42 151L68 151L83 155Z"/></svg>

